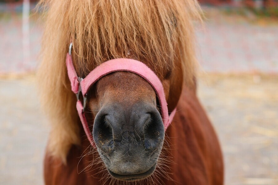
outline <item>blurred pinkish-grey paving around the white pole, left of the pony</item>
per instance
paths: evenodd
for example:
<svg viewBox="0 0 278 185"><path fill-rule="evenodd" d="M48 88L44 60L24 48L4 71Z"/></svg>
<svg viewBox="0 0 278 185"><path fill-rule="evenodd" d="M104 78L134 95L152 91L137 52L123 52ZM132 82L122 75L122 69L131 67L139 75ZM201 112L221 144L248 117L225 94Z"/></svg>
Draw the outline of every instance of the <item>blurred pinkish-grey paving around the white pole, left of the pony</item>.
<svg viewBox="0 0 278 185"><path fill-rule="evenodd" d="M22 15L0 14L0 74L26 73L38 66L42 25L30 20L30 57L23 55Z"/></svg>

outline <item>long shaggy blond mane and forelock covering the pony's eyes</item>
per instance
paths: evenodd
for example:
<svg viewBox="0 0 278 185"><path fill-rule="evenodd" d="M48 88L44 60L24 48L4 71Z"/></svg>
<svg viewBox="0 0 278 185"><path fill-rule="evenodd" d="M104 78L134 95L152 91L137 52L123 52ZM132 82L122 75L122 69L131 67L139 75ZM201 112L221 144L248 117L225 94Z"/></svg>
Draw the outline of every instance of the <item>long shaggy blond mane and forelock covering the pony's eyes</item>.
<svg viewBox="0 0 278 185"><path fill-rule="evenodd" d="M70 39L79 72L112 58L182 60L184 79L196 71L193 21L200 20L196 0L42 0L45 28L38 70L41 103L51 123L48 151L66 162L72 144L80 143L76 97L70 90L65 56Z"/></svg>

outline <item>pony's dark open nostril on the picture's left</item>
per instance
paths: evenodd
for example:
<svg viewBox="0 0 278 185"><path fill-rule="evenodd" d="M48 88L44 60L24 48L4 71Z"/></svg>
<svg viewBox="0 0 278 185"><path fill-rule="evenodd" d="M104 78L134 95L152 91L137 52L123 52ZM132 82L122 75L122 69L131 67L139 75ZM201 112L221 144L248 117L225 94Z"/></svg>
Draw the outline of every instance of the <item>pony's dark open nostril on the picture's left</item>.
<svg viewBox="0 0 278 185"><path fill-rule="evenodd" d="M96 143L104 145L113 139L112 127L106 118L106 115L97 116L95 121L95 128L93 129L93 137Z"/></svg>

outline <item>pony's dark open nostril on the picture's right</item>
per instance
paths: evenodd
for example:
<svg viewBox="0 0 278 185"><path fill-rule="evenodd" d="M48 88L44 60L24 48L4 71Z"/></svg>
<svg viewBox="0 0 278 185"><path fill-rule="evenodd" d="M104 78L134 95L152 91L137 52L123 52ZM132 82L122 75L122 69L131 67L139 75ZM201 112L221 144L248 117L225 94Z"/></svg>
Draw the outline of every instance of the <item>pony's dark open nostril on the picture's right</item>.
<svg viewBox="0 0 278 185"><path fill-rule="evenodd" d="M157 147L164 138L164 125L162 119L159 119L152 113L150 115L150 118L144 125L144 145L146 149Z"/></svg>

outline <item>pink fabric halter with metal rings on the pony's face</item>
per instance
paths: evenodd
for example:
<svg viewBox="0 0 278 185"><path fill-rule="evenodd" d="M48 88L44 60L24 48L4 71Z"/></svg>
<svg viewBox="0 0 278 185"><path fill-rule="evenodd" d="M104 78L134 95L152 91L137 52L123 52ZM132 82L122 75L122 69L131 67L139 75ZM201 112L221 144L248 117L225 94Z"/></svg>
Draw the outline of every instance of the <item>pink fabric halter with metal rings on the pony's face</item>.
<svg viewBox="0 0 278 185"><path fill-rule="evenodd" d="M67 53L66 56L66 66L68 70L68 76L70 79L71 84L71 90L76 94L77 96L77 103L76 108L78 111L78 115L80 117L80 120L82 122L83 128L85 130L85 133L91 142L91 145L95 147L95 142L93 140L92 134L90 133L90 129L88 127L88 123L85 117L84 109L86 107L86 95L89 90L89 88L97 82L101 77L112 73L116 71L127 71L127 72L133 72L141 77L143 77L145 80L147 80L150 85L154 88L160 106L161 106L161 114L162 114L162 120L164 124L165 130L167 127L171 124L173 117L176 112L176 108L173 110L173 112L168 114L168 107L167 102L164 95L164 90L161 81L159 80L158 76L150 69L148 66L146 66L144 63L133 60L133 59L113 59L108 60L104 62L103 64L96 67L93 71L91 71L88 76L86 76L84 79L77 76L77 73L75 71L72 58L71 58L71 46L70 45L70 51ZM82 92L83 95L83 104L79 100L79 94Z"/></svg>

